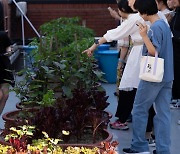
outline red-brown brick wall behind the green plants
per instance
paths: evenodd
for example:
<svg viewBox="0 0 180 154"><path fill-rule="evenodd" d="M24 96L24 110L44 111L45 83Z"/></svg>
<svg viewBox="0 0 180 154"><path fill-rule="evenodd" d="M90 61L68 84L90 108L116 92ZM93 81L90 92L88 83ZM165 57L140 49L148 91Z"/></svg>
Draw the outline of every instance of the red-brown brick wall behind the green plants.
<svg viewBox="0 0 180 154"><path fill-rule="evenodd" d="M78 16L86 27L93 29L96 36L102 36L108 29L115 28L115 21L107 8L117 8L116 4L27 4L27 16L35 28L45 22L59 17ZM11 37L21 38L21 18L15 16L15 6L11 6ZM25 38L32 38L36 34L25 21Z"/></svg>

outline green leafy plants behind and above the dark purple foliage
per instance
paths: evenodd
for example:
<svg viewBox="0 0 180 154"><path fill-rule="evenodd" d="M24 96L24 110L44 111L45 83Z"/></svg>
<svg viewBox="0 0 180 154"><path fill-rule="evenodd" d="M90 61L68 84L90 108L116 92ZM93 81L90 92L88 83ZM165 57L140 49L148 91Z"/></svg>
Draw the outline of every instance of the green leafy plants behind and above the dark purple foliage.
<svg viewBox="0 0 180 154"><path fill-rule="evenodd" d="M58 98L69 99L75 89L87 91L103 80L103 73L94 70L94 58L89 58L82 51L94 41L94 32L81 26L80 19L59 18L41 26L41 37L31 44L37 46L32 51L31 69L24 70L26 95L22 96L22 88L15 87L20 97L27 102L41 102L49 89L58 92ZM51 87L51 83L57 83ZM19 90L19 91L18 91ZM56 95L57 96L57 95Z"/></svg>

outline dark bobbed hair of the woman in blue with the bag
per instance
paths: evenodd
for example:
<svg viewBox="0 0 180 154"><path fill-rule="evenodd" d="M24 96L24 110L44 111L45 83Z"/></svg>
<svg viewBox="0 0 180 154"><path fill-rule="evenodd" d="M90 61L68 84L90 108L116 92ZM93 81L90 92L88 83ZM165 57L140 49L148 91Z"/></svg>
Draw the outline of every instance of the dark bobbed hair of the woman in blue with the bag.
<svg viewBox="0 0 180 154"><path fill-rule="evenodd" d="M158 12L155 0L136 0L134 8L138 10L140 14L154 15Z"/></svg>

